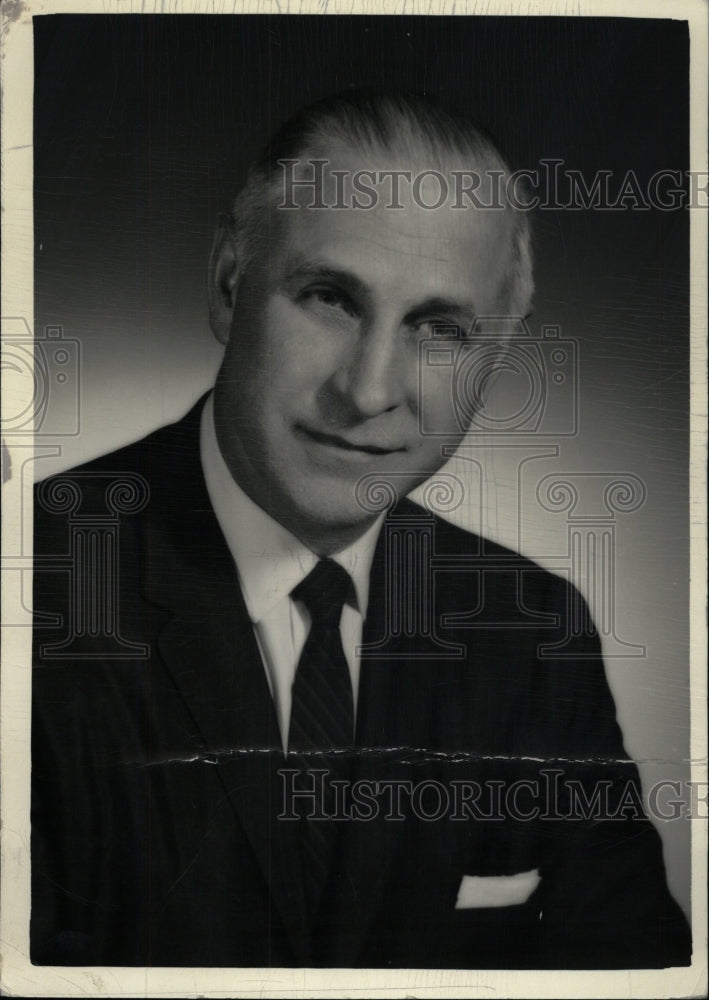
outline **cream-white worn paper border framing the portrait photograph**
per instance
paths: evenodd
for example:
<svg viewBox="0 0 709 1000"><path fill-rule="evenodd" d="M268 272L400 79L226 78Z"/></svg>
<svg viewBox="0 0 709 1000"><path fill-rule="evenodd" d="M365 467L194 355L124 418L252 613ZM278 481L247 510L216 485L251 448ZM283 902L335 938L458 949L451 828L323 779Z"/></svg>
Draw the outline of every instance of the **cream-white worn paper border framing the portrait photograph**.
<svg viewBox="0 0 709 1000"><path fill-rule="evenodd" d="M573 16L667 18L687 20L690 31L690 169L707 171L707 23L702 0L578 0ZM325 12L326 11L326 12ZM568 5L553 0L527 3L488 0L461 7L438 0L425 12L414 0L318 0L272 6L259 0L238 4L207 0L137 3L104 0L100 5L76 0L7 0L2 5L2 174L3 247L2 316L24 317L33 328L33 43L32 17L53 13L96 14L475 14L569 17ZM707 781L706 726L706 457L707 457L707 221L709 213L691 213L690 325L690 687L692 781ZM12 373L3 371L3 408L16 407L24 391ZM19 446L18 446L19 447ZM24 447L30 447L26 444ZM11 446L11 454L15 445ZM29 454L29 452L27 453ZM19 460L19 455L13 458ZM31 534L31 485L21 496L23 519L7 510L3 551L11 532ZM14 551L14 549L13 549ZM26 546L23 553L29 555ZM8 565L3 564L5 567ZM2 574L3 609L16 600L18 573ZM27 581L28 585L28 581ZM21 996L194 996L205 997L684 997L707 989L707 826L692 821L692 927L695 954L688 968L670 970L347 970L347 969L165 969L33 966L29 962L29 803L31 629L7 628L2 636L0 708L0 810L2 815L2 884L0 948L2 991ZM706 787L706 784L704 784Z"/></svg>

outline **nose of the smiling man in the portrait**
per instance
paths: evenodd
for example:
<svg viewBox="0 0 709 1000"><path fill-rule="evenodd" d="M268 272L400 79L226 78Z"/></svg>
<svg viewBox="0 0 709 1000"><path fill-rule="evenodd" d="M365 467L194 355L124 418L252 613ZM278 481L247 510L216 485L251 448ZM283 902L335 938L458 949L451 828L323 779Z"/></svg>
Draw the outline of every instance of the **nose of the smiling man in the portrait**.
<svg viewBox="0 0 709 1000"><path fill-rule="evenodd" d="M333 378L340 400L353 416L376 417L403 402L406 372L402 347L394 328L379 325L360 330Z"/></svg>

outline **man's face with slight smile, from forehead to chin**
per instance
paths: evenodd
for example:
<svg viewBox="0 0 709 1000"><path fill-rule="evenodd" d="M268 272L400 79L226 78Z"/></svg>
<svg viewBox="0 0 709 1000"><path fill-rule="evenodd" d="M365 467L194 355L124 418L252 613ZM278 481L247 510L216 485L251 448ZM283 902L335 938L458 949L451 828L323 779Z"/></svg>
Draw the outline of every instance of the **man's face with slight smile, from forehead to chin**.
<svg viewBox="0 0 709 1000"><path fill-rule="evenodd" d="M352 158L332 167L357 169ZM235 293L217 384L217 434L235 479L323 553L375 516L358 500L364 477L404 495L444 464L443 447L464 433L453 370L422 381L419 345L434 326L467 331L501 308L508 212L387 200L382 190L371 210L273 210L268 250ZM422 406L448 437L420 433Z"/></svg>

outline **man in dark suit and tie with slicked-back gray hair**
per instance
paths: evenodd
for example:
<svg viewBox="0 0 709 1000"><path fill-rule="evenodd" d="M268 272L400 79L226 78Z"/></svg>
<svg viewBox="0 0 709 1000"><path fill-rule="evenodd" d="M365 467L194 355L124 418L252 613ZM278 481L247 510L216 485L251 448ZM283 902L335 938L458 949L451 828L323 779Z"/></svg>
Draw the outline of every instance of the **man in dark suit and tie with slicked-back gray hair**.
<svg viewBox="0 0 709 1000"><path fill-rule="evenodd" d="M41 484L33 961L689 961L585 611L543 653L578 595L405 499L465 432L422 345L529 308L508 175L419 97L306 110L217 234L213 394Z"/></svg>

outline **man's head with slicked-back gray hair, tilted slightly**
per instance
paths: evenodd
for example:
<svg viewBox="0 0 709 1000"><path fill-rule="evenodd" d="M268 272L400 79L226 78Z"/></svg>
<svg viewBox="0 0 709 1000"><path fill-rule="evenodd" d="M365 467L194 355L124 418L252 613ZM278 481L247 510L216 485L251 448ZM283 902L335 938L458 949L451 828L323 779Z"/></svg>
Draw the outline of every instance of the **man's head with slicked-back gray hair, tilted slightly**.
<svg viewBox="0 0 709 1000"><path fill-rule="evenodd" d="M346 95L274 137L218 233L219 444L316 551L366 529L363 477L408 493L462 438L451 369L422 379L422 342L455 328L458 351L476 317L527 312L528 221L500 200L507 175L490 140L424 98ZM422 407L447 437L421 433Z"/></svg>

